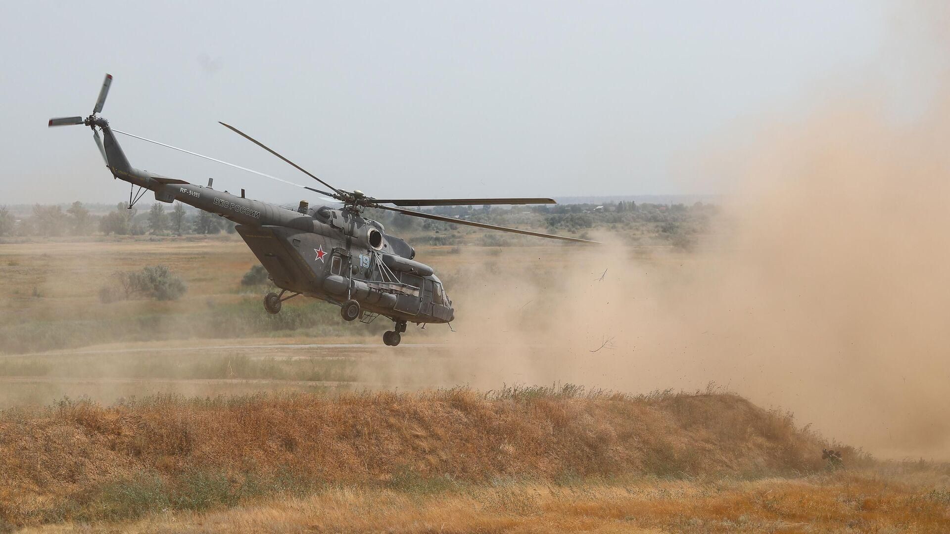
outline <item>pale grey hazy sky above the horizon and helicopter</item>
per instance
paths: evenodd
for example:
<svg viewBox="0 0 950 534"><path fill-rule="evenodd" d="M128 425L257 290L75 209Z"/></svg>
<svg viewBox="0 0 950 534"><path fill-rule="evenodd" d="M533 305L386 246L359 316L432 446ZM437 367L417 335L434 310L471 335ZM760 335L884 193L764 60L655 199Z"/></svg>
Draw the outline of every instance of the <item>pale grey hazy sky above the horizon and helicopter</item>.
<svg viewBox="0 0 950 534"><path fill-rule="evenodd" d="M236 125L385 196L696 191L677 160L880 60L886 5L826 2L5 2L0 203L118 201L87 128L298 183ZM139 168L261 200L293 186L120 136ZM146 200L151 200L150 196Z"/></svg>

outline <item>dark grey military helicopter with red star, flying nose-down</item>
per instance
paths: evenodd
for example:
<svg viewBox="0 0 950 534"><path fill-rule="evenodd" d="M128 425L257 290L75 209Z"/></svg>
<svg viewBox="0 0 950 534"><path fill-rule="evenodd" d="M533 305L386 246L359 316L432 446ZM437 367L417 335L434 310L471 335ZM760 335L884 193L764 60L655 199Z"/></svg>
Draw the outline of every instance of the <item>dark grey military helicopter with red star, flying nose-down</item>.
<svg viewBox="0 0 950 534"><path fill-rule="evenodd" d="M130 208L142 198L145 191L153 191L155 200L169 203L178 200L234 221L237 224L237 233L280 289L279 294L268 293L264 296L264 309L270 314L279 313L281 303L285 300L303 295L339 306L340 315L347 321L360 319L364 323L370 323L378 315L384 315L389 317L395 326L383 334L383 343L393 347L399 345L400 334L406 332L409 322L423 327L430 323L449 323L451 328L455 309L442 281L431 267L414 259L415 249L409 243L387 234L386 228L379 222L363 217L362 212L366 208L525 236L596 243L587 239L554 236L404 209L407 206L556 203L551 199L375 199L361 191L334 187L229 124L221 123L291 164L329 191L285 181L234 163L222 162L123 132L111 128L108 121L99 116L111 85L112 76L106 74L99 98L88 117L50 119L48 125L84 124L92 129L92 136L113 179L128 181L131 184L128 203ZM226 191L218 191L212 187L211 180L206 186L202 186L137 169L129 164L115 133L291 183L322 195L322 200L342 205L320 205L311 208L307 200L301 200L295 211L269 202L246 199L243 189L240 197ZM136 187L138 190L135 190Z"/></svg>

